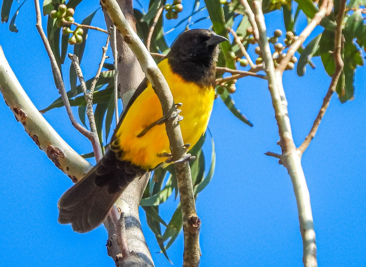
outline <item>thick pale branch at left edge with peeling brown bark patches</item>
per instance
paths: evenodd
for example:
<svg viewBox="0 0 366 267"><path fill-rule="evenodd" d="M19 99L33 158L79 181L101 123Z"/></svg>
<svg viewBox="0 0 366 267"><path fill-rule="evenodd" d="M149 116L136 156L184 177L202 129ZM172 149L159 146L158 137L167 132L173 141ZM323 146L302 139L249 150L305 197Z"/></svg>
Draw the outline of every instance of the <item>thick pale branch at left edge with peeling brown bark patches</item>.
<svg viewBox="0 0 366 267"><path fill-rule="evenodd" d="M93 165L74 151L45 120L31 102L5 58L0 46L0 91L5 103L22 123L26 132L55 163L56 167L77 182Z"/></svg>

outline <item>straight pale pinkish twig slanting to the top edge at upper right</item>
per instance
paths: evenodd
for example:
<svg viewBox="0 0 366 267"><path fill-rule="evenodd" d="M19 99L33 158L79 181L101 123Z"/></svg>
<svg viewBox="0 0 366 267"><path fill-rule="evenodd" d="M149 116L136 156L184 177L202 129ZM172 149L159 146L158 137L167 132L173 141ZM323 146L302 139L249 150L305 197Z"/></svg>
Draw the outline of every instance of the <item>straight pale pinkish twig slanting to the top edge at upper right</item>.
<svg viewBox="0 0 366 267"><path fill-rule="evenodd" d="M313 32L314 28L318 26L321 20L332 12L333 1L332 0L324 0L319 8L319 11L314 15L314 18L311 19L310 23L305 27L305 29L300 33L298 39L292 43L292 45L287 50L286 56L281 60L279 66L277 66L277 71L283 72L286 69L288 62L290 62L291 58L294 56L295 52L299 49L299 47L303 44L305 39L309 37L309 35Z"/></svg>

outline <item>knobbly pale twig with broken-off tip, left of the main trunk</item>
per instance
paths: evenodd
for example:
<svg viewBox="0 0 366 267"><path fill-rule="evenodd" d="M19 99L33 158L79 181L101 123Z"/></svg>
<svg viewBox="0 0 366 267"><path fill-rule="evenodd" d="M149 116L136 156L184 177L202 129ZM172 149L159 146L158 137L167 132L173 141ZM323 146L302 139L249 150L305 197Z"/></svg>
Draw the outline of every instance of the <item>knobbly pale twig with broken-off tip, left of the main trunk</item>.
<svg viewBox="0 0 366 267"><path fill-rule="evenodd" d="M74 65L76 76L78 76L78 78L79 78L81 89L84 93L84 97L85 97L85 101L86 101L86 114L87 114L88 120L89 120L90 132L91 132L91 134L93 134L93 136L97 137L97 140L95 140L97 148L94 148L94 155L95 155L95 160L98 162L99 160L101 160L103 154L102 154L100 140L98 138L97 126L96 126L95 118L94 118L93 95L91 95L91 98L89 97L88 90L86 88L85 79L84 79L83 73L80 68L79 58L76 55L73 55L70 53L68 54L68 57L71 59L71 62Z"/></svg>

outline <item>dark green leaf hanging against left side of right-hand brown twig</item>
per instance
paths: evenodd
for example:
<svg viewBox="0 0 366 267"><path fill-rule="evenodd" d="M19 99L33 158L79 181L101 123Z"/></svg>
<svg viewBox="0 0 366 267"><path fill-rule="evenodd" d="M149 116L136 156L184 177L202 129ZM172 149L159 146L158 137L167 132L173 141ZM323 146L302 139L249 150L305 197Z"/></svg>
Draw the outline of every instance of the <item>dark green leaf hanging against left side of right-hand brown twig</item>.
<svg viewBox="0 0 366 267"><path fill-rule="evenodd" d="M333 75L336 68L333 57L334 38L334 32L324 30L319 41L321 61L324 65L325 71L329 76Z"/></svg>

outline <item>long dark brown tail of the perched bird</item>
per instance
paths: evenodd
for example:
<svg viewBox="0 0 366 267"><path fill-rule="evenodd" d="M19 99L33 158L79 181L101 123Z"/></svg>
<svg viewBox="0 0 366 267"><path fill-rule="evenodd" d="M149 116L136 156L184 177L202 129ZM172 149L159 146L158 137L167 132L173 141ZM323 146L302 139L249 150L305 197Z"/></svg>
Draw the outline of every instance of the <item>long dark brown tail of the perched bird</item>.
<svg viewBox="0 0 366 267"><path fill-rule="evenodd" d="M59 200L59 223L71 224L79 233L89 232L102 222L127 185L145 171L120 161L109 150L85 177Z"/></svg>

